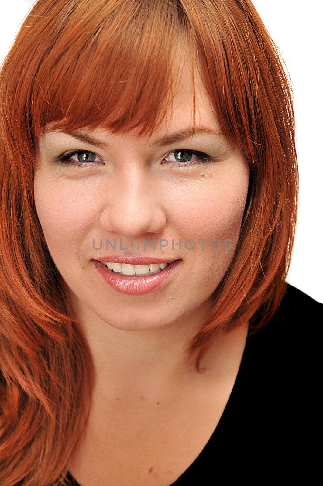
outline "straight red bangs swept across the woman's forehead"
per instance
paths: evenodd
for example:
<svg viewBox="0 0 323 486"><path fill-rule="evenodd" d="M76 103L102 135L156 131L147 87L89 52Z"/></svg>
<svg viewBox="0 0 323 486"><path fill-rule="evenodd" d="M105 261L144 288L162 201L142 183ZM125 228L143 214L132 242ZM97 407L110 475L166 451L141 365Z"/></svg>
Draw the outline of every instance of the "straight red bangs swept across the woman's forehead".
<svg viewBox="0 0 323 486"><path fill-rule="evenodd" d="M89 10L87 2L72 3L69 22L57 21L59 35L43 46L50 55L37 69L30 103L35 139L45 125L151 137L172 114L181 62L191 63L194 78L195 48L176 1L129 2L126 22L121 2Z"/></svg>

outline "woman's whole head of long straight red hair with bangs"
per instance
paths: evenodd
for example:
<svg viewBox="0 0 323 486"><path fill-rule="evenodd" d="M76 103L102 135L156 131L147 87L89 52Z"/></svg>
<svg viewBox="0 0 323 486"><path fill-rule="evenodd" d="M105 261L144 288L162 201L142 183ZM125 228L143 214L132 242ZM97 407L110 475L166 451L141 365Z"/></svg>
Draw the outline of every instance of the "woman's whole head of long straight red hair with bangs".
<svg viewBox="0 0 323 486"><path fill-rule="evenodd" d="M47 123L150 137L173 106L181 45L250 166L233 260L188 360L199 372L219 332L249 320L253 333L280 305L298 202L292 89L251 1L38 0L0 70L1 486L60 484L95 381L36 215L35 141Z"/></svg>

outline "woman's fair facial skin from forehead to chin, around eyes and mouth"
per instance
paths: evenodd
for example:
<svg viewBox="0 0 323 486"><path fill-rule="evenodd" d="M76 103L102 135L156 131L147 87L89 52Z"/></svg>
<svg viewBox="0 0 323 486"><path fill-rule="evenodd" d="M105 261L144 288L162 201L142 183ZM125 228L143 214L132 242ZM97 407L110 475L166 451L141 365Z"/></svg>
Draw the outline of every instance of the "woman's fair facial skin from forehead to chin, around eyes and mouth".
<svg viewBox="0 0 323 486"><path fill-rule="evenodd" d="M200 315L233 259L249 183L249 167L242 153L219 135L206 133L163 146L153 144L165 135L166 127L172 134L191 126L193 91L189 79L183 69L173 116L151 139L97 129L90 135L106 147L58 132L48 132L37 140L35 203L49 251L73 302L93 319L117 329L162 329L178 324L184 316ZM197 125L219 130L198 81ZM85 155L92 157L91 165L77 167L54 161L72 149L86 151ZM214 161L179 167L185 163L183 156L191 161L197 156L191 152L170 154L178 149L199 151ZM82 158L74 155L72 160ZM103 246L96 250L93 240L98 248L101 239ZM107 239L116 241L115 250L106 248ZM144 249L144 240L153 239L156 249ZM168 246L160 248L160 240L162 244L166 240ZM186 240L190 241L185 246ZM182 261L155 291L127 295L109 287L91 262L105 255Z"/></svg>

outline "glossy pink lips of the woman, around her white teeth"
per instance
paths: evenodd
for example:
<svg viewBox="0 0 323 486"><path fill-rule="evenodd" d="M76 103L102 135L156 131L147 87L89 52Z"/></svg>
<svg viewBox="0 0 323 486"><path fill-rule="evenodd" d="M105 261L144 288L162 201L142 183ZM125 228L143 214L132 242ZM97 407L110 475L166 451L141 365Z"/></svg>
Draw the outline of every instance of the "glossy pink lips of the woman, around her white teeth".
<svg viewBox="0 0 323 486"><path fill-rule="evenodd" d="M101 263L101 261L91 260L91 263L98 270L103 280L112 287L112 289L121 294L142 295L147 294L148 292L153 292L164 284L168 278L176 272L181 261L182 260L173 261L158 274L147 277L131 277L131 275L126 277L112 272Z"/></svg>

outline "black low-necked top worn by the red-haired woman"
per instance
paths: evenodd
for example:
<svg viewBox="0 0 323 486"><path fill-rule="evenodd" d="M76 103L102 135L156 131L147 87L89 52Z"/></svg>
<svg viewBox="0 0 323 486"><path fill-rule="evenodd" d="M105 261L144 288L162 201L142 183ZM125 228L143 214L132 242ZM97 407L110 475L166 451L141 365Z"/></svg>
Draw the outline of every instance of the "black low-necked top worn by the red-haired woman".
<svg viewBox="0 0 323 486"><path fill-rule="evenodd" d="M170 486L221 486L233 479L262 485L269 478L314 484L320 463L322 323L323 303L287 284L275 316L248 333L233 390L210 440ZM69 473L66 484L80 486Z"/></svg>

